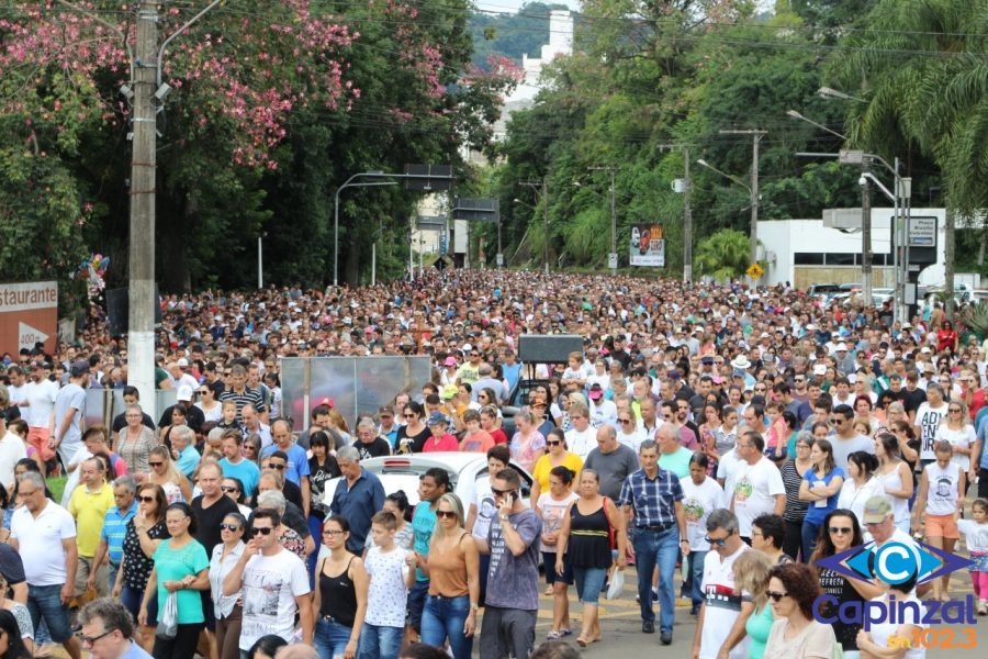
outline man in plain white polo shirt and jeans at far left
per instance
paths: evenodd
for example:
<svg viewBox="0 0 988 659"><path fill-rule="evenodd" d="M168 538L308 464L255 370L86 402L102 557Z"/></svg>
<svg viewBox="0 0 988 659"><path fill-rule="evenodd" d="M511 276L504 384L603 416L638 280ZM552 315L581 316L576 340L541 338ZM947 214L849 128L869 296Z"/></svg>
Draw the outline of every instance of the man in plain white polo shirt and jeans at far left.
<svg viewBox="0 0 988 659"><path fill-rule="evenodd" d="M18 493L24 505L11 520L9 543L24 561L31 621L37 629L44 618L52 639L60 643L71 659L80 659L67 606L75 594L76 523L67 510L45 498L45 479L40 473L21 476Z"/></svg>

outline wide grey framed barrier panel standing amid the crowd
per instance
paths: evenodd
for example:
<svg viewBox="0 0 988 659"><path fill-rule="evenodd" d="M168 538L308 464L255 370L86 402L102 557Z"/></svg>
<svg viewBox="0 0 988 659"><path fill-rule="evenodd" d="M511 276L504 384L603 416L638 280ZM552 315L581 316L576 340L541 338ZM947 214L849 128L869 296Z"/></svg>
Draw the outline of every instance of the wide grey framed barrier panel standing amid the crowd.
<svg viewBox="0 0 988 659"><path fill-rule="evenodd" d="M281 361L282 415L295 431L305 429L312 409L332 398L352 429L358 414L375 413L403 391L414 395L430 379L428 357L288 357Z"/></svg>

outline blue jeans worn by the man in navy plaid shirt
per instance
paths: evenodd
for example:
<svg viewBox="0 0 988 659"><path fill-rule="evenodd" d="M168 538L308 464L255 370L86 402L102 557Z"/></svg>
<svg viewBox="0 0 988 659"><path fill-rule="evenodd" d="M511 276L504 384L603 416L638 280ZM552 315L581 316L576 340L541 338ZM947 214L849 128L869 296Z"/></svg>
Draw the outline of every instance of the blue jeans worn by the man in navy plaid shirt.
<svg viewBox="0 0 988 659"><path fill-rule="evenodd" d="M676 602L673 582L676 558L680 556L680 529L675 526L663 532L636 528L631 538L635 547L635 566L638 570L638 597L641 619L655 622L652 611L652 572L659 566L659 630L672 634L676 622Z"/></svg>

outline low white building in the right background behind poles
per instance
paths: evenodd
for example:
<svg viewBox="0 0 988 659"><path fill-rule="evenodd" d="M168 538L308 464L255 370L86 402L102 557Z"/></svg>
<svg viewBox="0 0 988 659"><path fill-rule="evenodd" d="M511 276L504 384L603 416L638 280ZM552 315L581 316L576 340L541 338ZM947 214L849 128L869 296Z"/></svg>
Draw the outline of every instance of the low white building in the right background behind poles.
<svg viewBox="0 0 988 659"><path fill-rule="evenodd" d="M894 209L872 209L873 281L877 288L890 288L895 280L891 253ZM943 281L944 209L912 209L912 217L936 221L936 264L920 273L921 284ZM768 268L760 283L791 282L797 288L810 283L852 283L861 281L861 232L824 226L823 220L767 220L759 222L760 260Z"/></svg>

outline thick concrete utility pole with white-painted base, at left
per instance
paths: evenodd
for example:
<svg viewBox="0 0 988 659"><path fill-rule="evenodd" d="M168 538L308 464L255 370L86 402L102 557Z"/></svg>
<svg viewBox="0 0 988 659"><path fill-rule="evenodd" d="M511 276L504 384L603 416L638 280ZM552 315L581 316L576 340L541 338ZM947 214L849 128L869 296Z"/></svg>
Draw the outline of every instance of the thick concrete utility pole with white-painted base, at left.
<svg viewBox="0 0 988 659"><path fill-rule="evenodd" d="M141 0L134 78L134 145L131 163L131 249L127 289L127 383L145 411L155 405L155 190L157 179L158 4Z"/></svg>

